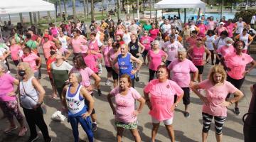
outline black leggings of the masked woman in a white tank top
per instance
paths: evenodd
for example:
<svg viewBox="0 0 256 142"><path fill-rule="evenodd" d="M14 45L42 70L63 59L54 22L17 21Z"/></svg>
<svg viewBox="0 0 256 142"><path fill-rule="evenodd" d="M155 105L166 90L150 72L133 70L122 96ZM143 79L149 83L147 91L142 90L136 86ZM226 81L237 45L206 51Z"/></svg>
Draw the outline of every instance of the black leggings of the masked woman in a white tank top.
<svg viewBox="0 0 256 142"><path fill-rule="evenodd" d="M36 131L36 126L41 130L43 133L43 138L46 142L50 142L51 138L49 136L48 128L46 122L43 119L43 110L41 107L35 109L26 109L23 108L26 121L29 126L29 130L31 132L31 138L36 138L38 135Z"/></svg>

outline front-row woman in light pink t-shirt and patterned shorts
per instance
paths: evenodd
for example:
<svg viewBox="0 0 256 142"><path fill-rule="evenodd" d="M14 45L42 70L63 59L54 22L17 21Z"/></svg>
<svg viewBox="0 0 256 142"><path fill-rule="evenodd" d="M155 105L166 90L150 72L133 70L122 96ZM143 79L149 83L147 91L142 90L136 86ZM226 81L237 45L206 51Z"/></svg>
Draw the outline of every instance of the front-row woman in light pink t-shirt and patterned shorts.
<svg viewBox="0 0 256 142"><path fill-rule="evenodd" d="M111 98L114 97L114 104ZM137 129L137 115L142 112L145 99L132 87L132 80L129 75L121 75L119 87L112 89L107 95L107 100L114 114L114 124L117 126L117 141L122 141L124 129L129 129L136 142L142 141ZM139 107L134 108L134 102L139 101Z"/></svg>

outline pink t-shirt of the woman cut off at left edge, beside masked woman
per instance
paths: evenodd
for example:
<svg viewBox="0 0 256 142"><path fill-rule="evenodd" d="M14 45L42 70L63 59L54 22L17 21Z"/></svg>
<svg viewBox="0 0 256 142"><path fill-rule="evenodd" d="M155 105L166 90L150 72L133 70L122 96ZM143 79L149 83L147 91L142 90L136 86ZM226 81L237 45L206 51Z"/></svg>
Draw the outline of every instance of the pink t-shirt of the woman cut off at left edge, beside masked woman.
<svg viewBox="0 0 256 142"><path fill-rule="evenodd" d="M9 92L14 91L14 80L9 73L5 73L0 77L0 101L1 102L9 102L16 99L16 97L11 97L7 95Z"/></svg>

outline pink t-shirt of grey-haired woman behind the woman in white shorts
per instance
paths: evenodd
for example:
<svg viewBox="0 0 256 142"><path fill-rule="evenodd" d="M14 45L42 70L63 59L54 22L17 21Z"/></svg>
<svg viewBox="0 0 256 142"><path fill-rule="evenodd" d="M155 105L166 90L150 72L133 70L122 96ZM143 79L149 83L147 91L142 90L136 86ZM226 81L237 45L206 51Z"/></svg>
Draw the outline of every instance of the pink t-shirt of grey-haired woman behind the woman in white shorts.
<svg viewBox="0 0 256 142"><path fill-rule="evenodd" d="M172 72L171 80L176 82L180 87L188 87L191 81L190 72L196 72L198 69L191 60L185 59L182 62L178 59L171 62L167 67Z"/></svg>

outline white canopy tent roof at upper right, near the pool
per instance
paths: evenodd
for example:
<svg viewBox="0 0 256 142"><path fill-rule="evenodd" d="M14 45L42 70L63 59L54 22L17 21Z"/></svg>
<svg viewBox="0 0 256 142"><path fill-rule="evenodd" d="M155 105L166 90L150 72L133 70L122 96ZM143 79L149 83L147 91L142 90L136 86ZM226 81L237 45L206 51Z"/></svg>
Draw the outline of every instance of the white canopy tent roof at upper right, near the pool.
<svg viewBox="0 0 256 142"><path fill-rule="evenodd" d="M186 9L205 8L206 4L200 0L162 0L154 4L155 9Z"/></svg>

